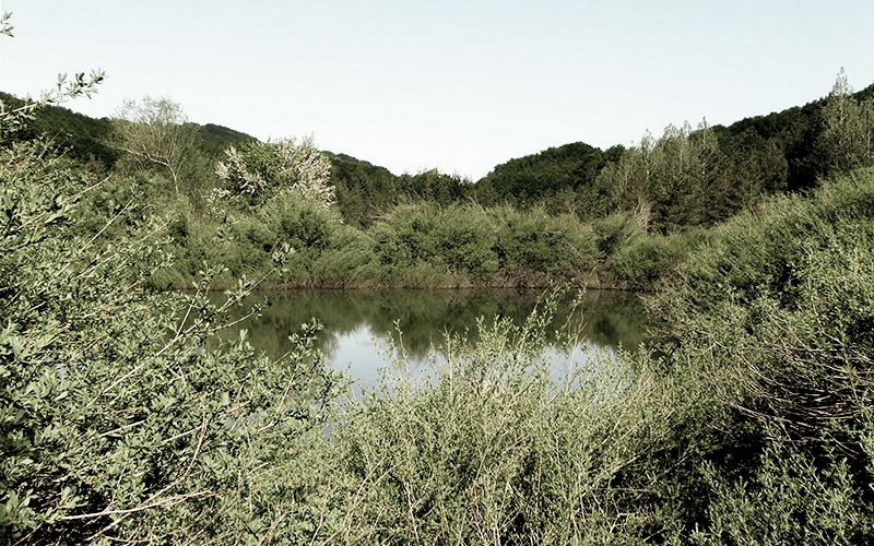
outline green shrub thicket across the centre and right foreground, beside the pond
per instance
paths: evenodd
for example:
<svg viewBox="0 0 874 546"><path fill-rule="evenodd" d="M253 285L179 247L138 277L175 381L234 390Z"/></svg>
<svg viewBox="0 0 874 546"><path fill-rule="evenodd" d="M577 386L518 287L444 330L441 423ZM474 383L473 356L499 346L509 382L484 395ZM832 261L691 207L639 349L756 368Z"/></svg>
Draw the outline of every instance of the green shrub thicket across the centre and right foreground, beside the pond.
<svg viewBox="0 0 874 546"><path fill-rule="evenodd" d="M556 380L538 356L547 299L519 327L481 323L473 345L447 340L430 375L392 361L323 447L338 512L317 531L339 543L869 544L872 199L874 171L857 171L720 226L653 296L658 357L590 360Z"/></svg>

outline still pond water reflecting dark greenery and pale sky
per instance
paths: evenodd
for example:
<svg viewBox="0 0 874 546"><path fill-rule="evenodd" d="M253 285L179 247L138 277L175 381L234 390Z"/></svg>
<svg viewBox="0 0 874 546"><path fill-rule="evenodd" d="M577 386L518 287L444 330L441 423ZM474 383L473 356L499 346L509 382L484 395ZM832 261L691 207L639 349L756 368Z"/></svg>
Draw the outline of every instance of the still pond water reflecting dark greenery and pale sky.
<svg viewBox="0 0 874 546"><path fill-rule="evenodd" d="M276 358L290 348L288 336L315 318L324 327L318 346L326 363L349 372L359 385L370 387L392 344L403 345L413 366L423 365L429 356L439 360L447 333L475 339L480 317L486 323L501 316L521 324L541 295L516 289L263 292L249 301L263 305L261 316L223 335L236 337L246 329L256 349ZM565 319L562 307L568 305L559 306L556 327ZM645 341L646 314L635 294L590 290L583 296L581 314L583 337L576 345L575 358L612 352L619 345L635 348Z"/></svg>

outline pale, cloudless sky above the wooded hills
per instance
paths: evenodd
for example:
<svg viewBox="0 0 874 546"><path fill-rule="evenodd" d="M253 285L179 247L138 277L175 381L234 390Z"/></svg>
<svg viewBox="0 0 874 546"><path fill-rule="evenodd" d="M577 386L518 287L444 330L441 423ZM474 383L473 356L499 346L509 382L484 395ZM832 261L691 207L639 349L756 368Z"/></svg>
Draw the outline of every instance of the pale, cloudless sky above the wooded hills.
<svg viewBox="0 0 874 546"><path fill-rule="evenodd" d="M570 142L634 145L874 83L871 0L0 0L0 91L101 69L260 140L477 180Z"/></svg>

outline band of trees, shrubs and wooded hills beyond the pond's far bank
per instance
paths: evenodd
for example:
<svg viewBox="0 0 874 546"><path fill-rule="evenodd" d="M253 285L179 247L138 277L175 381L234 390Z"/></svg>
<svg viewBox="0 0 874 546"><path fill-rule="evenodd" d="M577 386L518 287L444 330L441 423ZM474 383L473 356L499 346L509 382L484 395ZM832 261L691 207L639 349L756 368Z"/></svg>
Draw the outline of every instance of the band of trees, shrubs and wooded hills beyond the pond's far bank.
<svg viewBox="0 0 874 546"><path fill-rule="evenodd" d="M841 73L804 107L728 128L672 126L629 149L568 144L476 183L435 170L395 176L321 153L311 139L260 143L149 97L114 120L44 108L15 138L50 135L111 174L87 200L91 225L126 200L167 219L176 260L154 275L160 287L188 286L206 261L227 268L218 285L247 275L275 287L653 289L701 228L872 165L872 93L852 93Z"/></svg>

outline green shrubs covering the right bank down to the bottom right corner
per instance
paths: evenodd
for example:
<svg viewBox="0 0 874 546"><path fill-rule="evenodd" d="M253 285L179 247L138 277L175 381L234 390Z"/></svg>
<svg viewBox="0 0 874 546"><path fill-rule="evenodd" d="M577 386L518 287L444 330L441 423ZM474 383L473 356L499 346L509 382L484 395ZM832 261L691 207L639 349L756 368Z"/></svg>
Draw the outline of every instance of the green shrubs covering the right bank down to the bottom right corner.
<svg viewBox="0 0 874 546"><path fill-rule="evenodd" d="M871 541L872 204L871 169L772 199L709 234L656 298L670 373L728 410L696 471L710 500L687 500L690 537ZM720 463L724 438L751 429L754 459Z"/></svg>

